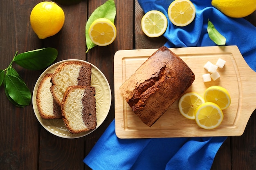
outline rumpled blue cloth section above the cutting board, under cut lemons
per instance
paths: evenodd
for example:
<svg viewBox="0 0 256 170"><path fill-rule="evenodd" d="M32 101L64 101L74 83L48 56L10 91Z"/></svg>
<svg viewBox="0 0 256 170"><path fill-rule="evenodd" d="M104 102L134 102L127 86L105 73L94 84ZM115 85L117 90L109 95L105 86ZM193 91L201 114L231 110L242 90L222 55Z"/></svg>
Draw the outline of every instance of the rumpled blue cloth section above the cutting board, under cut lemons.
<svg viewBox="0 0 256 170"><path fill-rule="evenodd" d="M158 10L168 18L168 7L173 0L138 0L146 13ZM244 18L230 18L212 7L211 0L191 0L196 9L191 24L179 27L168 20L164 37L169 48L189 46L216 46L207 33L208 19L227 39L226 45L237 45L247 64L256 71L256 27Z"/></svg>

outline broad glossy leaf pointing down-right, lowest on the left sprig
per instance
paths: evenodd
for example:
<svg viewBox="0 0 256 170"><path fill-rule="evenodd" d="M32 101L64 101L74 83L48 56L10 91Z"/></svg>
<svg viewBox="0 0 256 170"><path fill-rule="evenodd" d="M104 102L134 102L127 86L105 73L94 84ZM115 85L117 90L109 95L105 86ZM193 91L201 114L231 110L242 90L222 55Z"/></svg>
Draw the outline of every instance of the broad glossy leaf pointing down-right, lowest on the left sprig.
<svg viewBox="0 0 256 170"><path fill-rule="evenodd" d="M4 76L4 90L7 98L16 106L27 106L31 101L31 93L25 82L16 76Z"/></svg>

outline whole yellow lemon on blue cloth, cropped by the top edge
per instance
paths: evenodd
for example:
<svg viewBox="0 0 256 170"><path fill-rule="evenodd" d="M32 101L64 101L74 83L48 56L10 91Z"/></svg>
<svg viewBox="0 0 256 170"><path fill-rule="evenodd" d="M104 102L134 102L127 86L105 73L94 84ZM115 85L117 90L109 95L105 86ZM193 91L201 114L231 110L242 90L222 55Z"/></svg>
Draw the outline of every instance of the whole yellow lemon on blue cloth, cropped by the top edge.
<svg viewBox="0 0 256 170"><path fill-rule="evenodd" d="M256 0L212 0L211 4L232 18L243 18L256 10Z"/></svg>

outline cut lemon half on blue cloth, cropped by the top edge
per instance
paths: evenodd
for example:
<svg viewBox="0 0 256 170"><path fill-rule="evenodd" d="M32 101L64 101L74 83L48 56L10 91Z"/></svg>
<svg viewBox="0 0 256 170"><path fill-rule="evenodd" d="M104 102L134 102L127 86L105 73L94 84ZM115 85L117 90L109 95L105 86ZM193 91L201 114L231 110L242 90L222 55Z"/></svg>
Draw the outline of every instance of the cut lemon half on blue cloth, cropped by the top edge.
<svg viewBox="0 0 256 170"><path fill-rule="evenodd" d="M186 26L195 18L195 6L189 0L175 0L168 8L168 16L176 26Z"/></svg>

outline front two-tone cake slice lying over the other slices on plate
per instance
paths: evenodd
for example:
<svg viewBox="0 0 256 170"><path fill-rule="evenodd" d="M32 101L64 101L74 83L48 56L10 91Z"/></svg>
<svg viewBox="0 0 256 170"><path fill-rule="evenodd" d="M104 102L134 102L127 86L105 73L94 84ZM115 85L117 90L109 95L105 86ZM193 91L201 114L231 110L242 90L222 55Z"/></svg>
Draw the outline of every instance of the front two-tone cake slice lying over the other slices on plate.
<svg viewBox="0 0 256 170"><path fill-rule="evenodd" d="M73 133L93 130L97 126L95 88L92 86L69 86L61 104L62 118L67 129Z"/></svg>

